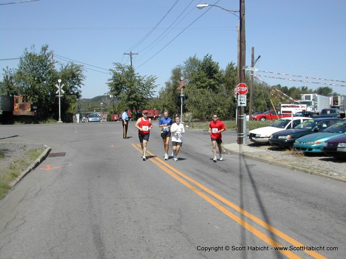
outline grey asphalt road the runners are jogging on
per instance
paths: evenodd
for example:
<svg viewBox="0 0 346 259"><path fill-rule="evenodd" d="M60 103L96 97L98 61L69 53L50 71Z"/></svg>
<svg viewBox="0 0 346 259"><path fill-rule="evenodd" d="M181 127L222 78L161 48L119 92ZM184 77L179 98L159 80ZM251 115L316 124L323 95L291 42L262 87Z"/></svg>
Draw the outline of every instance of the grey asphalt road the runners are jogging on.
<svg viewBox="0 0 346 259"><path fill-rule="evenodd" d="M0 258L346 258L345 183L238 155L213 163L199 130L165 161L154 125L147 161L134 122L126 140L119 122L0 126L65 153L0 201Z"/></svg>

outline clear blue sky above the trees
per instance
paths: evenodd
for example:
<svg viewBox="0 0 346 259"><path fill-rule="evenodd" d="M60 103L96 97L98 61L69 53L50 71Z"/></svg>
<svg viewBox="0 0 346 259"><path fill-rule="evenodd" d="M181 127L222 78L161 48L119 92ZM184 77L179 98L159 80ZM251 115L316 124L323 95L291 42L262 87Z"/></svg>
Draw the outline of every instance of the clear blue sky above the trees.
<svg viewBox="0 0 346 259"><path fill-rule="evenodd" d="M0 5L1 72L18 65L18 60L3 59L20 57L33 44L37 52L48 44L55 60L88 64L82 64L87 69L82 95L92 98L108 92L107 70L116 62L129 64L130 55L124 53L130 51L138 53L133 55L137 73L158 77L156 90L190 56L202 59L210 54L222 69L237 63L238 17L217 7L199 10L199 3L239 10L239 0L38 0ZM346 95L346 82L340 82L346 81L346 0L245 0L245 8L246 65L251 65L254 47L255 58L260 55L255 66L262 71L255 73L259 79L289 87L330 86Z"/></svg>

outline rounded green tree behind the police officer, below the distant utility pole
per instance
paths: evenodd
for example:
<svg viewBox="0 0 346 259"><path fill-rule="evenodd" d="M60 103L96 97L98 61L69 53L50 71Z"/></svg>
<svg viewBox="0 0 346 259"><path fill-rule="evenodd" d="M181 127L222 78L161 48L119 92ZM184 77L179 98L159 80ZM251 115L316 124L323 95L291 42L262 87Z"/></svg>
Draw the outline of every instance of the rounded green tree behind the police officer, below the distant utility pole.
<svg viewBox="0 0 346 259"><path fill-rule="evenodd" d="M131 66L114 63L115 69L110 69L112 77L108 79L109 92L121 100L123 108L129 107L138 111L144 109L149 98L153 96L157 77L136 74Z"/></svg>

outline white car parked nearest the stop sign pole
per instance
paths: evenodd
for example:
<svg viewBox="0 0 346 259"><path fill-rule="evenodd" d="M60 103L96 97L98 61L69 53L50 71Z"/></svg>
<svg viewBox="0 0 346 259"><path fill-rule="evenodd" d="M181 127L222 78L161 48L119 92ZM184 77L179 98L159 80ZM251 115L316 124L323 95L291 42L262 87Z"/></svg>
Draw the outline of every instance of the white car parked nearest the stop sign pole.
<svg viewBox="0 0 346 259"><path fill-rule="evenodd" d="M295 128L303 121L311 119L309 117L285 117L274 121L270 126L251 130L248 137L252 142L258 144L268 144L270 135L286 129Z"/></svg>

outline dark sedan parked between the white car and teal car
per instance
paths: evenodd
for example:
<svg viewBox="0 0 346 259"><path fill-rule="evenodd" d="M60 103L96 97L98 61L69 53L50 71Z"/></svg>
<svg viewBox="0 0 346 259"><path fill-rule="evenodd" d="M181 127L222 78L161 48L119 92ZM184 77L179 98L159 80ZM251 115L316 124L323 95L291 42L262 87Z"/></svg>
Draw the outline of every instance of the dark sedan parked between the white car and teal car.
<svg viewBox="0 0 346 259"><path fill-rule="evenodd" d="M305 135L320 132L331 125L342 121L340 118L311 118L305 120L294 129L273 133L269 138L269 144L282 148L292 147L296 139Z"/></svg>

